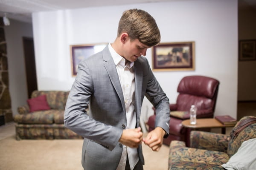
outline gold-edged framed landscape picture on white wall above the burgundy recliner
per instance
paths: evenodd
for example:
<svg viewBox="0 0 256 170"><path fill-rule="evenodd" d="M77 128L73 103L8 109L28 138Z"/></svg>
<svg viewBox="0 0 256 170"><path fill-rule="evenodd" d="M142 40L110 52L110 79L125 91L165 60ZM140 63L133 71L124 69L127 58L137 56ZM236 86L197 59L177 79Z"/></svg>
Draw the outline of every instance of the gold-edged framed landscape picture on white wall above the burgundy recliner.
<svg viewBox="0 0 256 170"><path fill-rule="evenodd" d="M160 43L152 48L153 71L195 70L195 42Z"/></svg>

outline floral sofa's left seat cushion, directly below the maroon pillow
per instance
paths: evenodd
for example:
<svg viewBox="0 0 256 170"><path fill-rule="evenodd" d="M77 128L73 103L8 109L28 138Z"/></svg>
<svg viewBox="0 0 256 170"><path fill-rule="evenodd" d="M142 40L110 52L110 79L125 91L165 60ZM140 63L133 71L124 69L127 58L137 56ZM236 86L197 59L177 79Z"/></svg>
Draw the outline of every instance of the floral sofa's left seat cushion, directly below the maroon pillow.
<svg viewBox="0 0 256 170"><path fill-rule="evenodd" d="M35 111L28 114L16 114L14 121L22 124L52 124L55 110Z"/></svg>

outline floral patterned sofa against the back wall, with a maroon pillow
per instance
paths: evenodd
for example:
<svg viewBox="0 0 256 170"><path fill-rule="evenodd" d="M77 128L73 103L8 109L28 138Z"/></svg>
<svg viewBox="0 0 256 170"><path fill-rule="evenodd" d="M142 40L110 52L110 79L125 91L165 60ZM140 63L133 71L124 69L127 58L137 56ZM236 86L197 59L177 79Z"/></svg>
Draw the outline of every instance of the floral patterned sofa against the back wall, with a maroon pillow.
<svg viewBox="0 0 256 170"><path fill-rule="evenodd" d="M68 94L68 91L33 91L31 99L44 96L48 108L31 112L31 105L18 107L19 114L14 116L16 139L82 139L64 126L64 109ZM38 105L37 108L44 105L44 102L40 101L34 103Z"/></svg>

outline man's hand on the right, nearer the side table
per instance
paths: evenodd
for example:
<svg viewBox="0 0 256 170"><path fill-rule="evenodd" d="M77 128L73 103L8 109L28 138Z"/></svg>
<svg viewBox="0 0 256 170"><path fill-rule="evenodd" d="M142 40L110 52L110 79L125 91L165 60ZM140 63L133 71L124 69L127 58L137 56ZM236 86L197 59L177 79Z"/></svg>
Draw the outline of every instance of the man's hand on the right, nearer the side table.
<svg viewBox="0 0 256 170"><path fill-rule="evenodd" d="M148 133L147 137L143 139L143 142L147 144L153 151L159 151L163 144L163 136L165 131L161 127L156 127L154 130Z"/></svg>

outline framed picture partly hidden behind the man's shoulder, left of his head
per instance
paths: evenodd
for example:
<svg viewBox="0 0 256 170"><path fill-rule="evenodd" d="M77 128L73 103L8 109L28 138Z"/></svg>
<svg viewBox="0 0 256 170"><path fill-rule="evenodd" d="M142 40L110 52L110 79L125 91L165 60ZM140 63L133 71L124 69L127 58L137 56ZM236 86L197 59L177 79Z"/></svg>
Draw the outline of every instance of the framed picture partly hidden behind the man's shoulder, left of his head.
<svg viewBox="0 0 256 170"><path fill-rule="evenodd" d="M93 45L70 45L72 76L76 76L78 64L81 60L102 51L107 43Z"/></svg>

